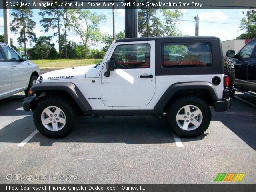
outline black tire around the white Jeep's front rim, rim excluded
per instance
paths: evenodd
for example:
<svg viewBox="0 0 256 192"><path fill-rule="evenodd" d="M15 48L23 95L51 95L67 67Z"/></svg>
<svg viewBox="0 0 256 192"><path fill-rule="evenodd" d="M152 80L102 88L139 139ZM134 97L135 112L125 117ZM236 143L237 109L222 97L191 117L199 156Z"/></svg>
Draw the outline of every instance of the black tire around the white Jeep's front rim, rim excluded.
<svg viewBox="0 0 256 192"><path fill-rule="evenodd" d="M49 106L56 106L60 108L66 116L66 124L62 129L58 131L48 130L42 124L42 120L41 120L42 112L44 111L45 108ZM76 117L77 117L77 114L76 114L75 108L65 98L61 98L61 97L43 98L38 102L38 104L36 104L36 107L34 108L34 114L33 114L34 124L36 128L41 134L43 134L48 138L66 137L68 134L70 134L72 129L76 126Z"/></svg>

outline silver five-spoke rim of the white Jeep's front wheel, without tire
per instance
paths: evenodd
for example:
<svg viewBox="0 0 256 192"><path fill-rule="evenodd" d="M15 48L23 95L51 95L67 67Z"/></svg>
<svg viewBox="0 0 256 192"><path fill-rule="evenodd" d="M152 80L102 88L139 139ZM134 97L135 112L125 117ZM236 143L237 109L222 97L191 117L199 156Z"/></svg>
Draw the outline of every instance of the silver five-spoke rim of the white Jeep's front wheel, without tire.
<svg viewBox="0 0 256 192"><path fill-rule="evenodd" d="M60 108L49 106L43 110L41 121L46 129L50 131L59 131L66 124L66 116Z"/></svg>

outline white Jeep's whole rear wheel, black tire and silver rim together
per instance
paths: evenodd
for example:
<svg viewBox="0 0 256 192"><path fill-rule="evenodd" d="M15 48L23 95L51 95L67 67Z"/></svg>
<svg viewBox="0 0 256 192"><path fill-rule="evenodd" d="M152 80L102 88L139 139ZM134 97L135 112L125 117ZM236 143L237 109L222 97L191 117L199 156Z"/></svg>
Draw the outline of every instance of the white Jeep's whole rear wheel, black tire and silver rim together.
<svg viewBox="0 0 256 192"><path fill-rule="evenodd" d="M174 134L183 138L193 138L207 130L211 121L211 111L202 98L182 96L172 103L167 117Z"/></svg>

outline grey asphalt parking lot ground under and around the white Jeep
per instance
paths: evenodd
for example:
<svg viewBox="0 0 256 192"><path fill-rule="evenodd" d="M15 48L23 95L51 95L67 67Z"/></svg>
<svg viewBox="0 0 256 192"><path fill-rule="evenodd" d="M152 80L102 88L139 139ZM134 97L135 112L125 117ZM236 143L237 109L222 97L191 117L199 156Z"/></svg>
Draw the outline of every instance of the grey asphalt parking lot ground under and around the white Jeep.
<svg viewBox="0 0 256 192"><path fill-rule="evenodd" d="M229 111L212 110L194 139L174 137L151 116L81 117L68 137L48 139L22 110L24 97L0 100L0 183L214 183L218 173L256 183L256 98L236 93L250 104L234 98Z"/></svg>

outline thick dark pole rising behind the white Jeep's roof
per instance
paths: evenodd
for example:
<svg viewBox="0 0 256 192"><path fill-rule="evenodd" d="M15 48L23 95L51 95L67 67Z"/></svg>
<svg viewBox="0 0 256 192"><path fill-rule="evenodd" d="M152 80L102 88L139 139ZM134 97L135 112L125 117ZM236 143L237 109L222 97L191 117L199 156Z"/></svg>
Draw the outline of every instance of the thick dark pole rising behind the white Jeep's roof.
<svg viewBox="0 0 256 192"><path fill-rule="evenodd" d="M137 0L124 0L126 4L133 5ZM125 38L138 37L138 10L134 6L125 8Z"/></svg>

